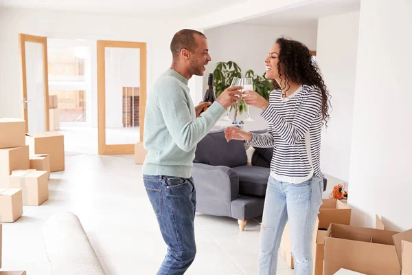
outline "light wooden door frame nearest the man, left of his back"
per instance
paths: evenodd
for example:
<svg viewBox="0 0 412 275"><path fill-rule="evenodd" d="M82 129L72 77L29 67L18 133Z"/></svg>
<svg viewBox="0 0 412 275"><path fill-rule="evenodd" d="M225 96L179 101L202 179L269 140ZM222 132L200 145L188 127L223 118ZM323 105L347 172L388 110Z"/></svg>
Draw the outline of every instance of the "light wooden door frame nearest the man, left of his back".
<svg viewBox="0 0 412 275"><path fill-rule="evenodd" d="M98 41L98 135L99 155L122 155L135 153L136 144L106 144L106 68L105 48L120 47L140 50L140 97L139 97L139 126L140 140L137 144L143 144L144 115L146 111L146 58L147 44L144 42L126 41ZM122 91L119 91L119 94Z"/></svg>

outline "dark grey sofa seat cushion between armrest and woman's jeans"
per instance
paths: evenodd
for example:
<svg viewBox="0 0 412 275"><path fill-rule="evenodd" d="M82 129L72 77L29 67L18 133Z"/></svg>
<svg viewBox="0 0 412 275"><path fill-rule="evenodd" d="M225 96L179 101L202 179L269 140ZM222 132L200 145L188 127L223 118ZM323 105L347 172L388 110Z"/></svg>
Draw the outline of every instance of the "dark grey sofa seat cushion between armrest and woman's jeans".
<svg viewBox="0 0 412 275"><path fill-rule="evenodd" d="M233 167L239 177L239 194L264 196L271 169L260 166Z"/></svg>

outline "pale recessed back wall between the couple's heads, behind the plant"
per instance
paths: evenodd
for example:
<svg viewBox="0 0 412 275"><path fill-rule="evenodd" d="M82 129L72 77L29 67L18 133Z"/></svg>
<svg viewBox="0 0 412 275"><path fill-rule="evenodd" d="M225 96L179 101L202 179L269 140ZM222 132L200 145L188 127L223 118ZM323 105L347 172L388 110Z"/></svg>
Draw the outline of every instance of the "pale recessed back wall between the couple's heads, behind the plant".
<svg viewBox="0 0 412 275"><path fill-rule="evenodd" d="M205 30L209 43L211 63L207 65L203 76L203 89L196 94L196 102L202 100L202 93L207 85L207 75L216 68L220 61L234 61L242 69L242 73L253 69L255 74L262 76L265 72L264 59L279 36L290 36L292 39L305 43L310 50L317 50L317 29L274 28L267 26L231 24L210 30ZM260 109L251 107L251 118L254 122L245 122L247 131L265 129L266 121L260 117ZM233 114L231 115L233 118ZM238 121L247 118L244 112Z"/></svg>

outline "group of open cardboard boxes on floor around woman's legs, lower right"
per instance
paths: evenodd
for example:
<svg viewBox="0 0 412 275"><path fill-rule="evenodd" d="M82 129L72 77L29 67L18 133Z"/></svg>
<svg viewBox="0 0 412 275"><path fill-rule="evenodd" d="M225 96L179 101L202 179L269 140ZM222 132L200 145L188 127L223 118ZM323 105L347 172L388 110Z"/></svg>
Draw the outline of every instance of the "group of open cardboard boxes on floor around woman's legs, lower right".
<svg viewBox="0 0 412 275"><path fill-rule="evenodd" d="M412 275L412 230L394 232L376 216L376 228L350 225L351 208L336 199L323 199L314 228L314 275ZM293 268L286 224L279 253Z"/></svg>

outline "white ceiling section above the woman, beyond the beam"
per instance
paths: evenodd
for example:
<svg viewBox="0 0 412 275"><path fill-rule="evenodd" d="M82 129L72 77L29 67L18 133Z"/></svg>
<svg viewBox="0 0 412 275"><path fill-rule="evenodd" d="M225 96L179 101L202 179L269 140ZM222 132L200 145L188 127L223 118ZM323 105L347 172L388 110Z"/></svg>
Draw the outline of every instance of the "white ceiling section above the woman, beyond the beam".
<svg viewBox="0 0 412 275"><path fill-rule="evenodd" d="M239 22L283 28L317 28L317 19L359 10L361 0L323 0Z"/></svg>

